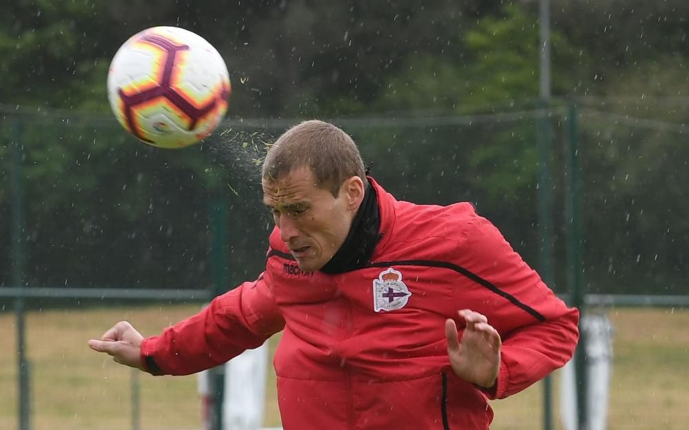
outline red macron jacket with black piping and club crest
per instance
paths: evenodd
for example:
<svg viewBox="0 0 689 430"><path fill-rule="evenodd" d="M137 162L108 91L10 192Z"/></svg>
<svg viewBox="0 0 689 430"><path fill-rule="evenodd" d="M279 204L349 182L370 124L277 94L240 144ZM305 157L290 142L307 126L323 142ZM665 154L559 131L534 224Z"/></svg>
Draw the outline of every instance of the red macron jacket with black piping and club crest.
<svg viewBox="0 0 689 430"><path fill-rule="evenodd" d="M488 429L489 398L525 389L572 356L579 312L469 203L415 205L371 183L382 238L366 267L301 272L276 229L258 280L144 340L142 360L157 373L194 373L284 330L274 365L286 430ZM444 321L465 308L502 337L490 391L449 364Z"/></svg>

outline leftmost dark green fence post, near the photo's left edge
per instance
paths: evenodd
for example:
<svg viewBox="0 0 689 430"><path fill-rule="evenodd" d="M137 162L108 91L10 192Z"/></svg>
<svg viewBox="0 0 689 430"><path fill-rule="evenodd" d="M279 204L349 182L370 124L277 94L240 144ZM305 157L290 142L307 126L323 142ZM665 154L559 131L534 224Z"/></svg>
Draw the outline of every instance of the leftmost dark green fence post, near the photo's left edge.
<svg viewBox="0 0 689 430"><path fill-rule="evenodd" d="M21 122L12 121L12 284L25 288L24 266L24 213L22 169L23 147L21 145ZM29 363L26 360L24 298L21 294L15 300L17 311L17 367L19 377L19 430L30 429L30 385Z"/></svg>

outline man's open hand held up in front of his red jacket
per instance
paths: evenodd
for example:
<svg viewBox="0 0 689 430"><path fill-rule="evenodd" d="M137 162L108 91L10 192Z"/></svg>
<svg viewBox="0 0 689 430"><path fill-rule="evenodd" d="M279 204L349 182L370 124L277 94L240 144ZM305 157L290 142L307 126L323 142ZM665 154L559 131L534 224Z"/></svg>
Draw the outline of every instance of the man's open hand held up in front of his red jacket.
<svg viewBox="0 0 689 430"><path fill-rule="evenodd" d="M466 382L491 388L500 370L500 334L489 325L488 318L478 312L462 309L457 314L465 324L461 340L457 336L455 321L445 321L447 355L452 370Z"/></svg>

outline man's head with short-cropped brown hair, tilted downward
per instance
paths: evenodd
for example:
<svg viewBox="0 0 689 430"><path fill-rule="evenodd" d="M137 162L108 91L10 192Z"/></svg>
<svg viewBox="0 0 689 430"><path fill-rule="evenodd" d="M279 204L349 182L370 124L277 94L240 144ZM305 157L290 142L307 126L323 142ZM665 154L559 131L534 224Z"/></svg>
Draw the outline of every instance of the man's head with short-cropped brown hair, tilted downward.
<svg viewBox="0 0 689 430"><path fill-rule="evenodd" d="M367 186L352 139L335 125L287 130L263 162L263 201L300 269L323 267L347 238Z"/></svg>

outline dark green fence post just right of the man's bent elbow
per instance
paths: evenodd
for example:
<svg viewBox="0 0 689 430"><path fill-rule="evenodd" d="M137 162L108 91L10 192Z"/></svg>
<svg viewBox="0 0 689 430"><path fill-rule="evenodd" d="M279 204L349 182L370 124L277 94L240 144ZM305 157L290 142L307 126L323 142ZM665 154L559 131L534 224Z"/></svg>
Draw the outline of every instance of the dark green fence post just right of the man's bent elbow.
<svg viewBox="0 0 689 430"><path fill-rule="evenodd" d="M582 218L579 208L579 135L577 125L577 105L570 101L568 106L568 139L565 139L566 187L565 187L565 225L567 232L567 260L570 269L570 305L579 308L584 314L584 287L582 287ZM577 393L577 422L579 429L586 427L586 336L579 322L579 345L575 351L574 364Z"/></svg>

